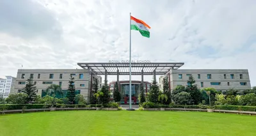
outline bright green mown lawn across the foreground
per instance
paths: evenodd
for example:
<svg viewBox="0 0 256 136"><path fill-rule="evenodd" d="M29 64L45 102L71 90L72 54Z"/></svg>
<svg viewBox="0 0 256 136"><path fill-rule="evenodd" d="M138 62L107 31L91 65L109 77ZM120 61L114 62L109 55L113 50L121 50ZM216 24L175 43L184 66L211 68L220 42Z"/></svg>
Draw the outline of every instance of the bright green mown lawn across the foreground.
<svg viewBox="0 0 256 136"><path fill-rule="evenodd" d="M0 116L0 135L256 135L256 116L172 111L56 111Z"/></svg>

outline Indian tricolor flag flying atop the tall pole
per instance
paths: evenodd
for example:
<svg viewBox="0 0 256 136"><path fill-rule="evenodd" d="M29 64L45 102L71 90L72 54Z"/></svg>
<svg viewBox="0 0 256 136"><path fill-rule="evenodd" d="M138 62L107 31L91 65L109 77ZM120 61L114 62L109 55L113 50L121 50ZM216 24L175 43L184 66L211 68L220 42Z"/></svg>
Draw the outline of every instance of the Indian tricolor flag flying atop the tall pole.
<svg viewBox="0 0 256 136"><path fill-rule="evenodd" d="M150 32L148 29L150 29L150 26L145 22L131 16L131 30L140 31L142 36L149 37Z"/></svg>

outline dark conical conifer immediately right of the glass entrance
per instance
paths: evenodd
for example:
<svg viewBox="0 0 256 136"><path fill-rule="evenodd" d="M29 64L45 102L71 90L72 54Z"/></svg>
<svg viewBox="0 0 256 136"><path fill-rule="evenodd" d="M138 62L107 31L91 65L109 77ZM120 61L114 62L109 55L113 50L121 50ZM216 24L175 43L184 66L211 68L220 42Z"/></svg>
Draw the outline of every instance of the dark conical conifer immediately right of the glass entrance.
<svg viewBox="0 0 256 136"><path fill-rule="evenodd" d="M147 99L149 102L153 102L154 104L157 104L158 95L159 95L159 86L157 85L156 80L153 79L152 86L150 88L150 91L148 92Z"/></svg>

